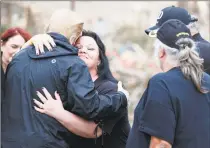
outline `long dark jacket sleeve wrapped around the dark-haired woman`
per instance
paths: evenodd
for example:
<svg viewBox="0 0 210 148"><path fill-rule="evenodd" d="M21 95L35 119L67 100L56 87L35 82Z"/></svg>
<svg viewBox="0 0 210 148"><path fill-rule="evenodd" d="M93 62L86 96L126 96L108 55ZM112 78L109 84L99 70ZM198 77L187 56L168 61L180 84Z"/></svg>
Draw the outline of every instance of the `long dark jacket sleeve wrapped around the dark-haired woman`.
<svg viewBox="0 0 210 148"><path fill-rule="evenodd" d="M98 94L84 63L74 63L68 72L67 92L71 112L85 119L98 120L118 116L127 109L127 98L123 93Z"/></svg>

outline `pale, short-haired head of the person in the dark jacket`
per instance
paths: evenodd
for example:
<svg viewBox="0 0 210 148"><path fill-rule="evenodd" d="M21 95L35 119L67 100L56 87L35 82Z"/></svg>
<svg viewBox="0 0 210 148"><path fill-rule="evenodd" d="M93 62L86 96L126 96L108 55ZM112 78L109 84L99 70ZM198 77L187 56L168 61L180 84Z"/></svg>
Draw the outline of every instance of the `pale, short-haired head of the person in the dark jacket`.
<svg viewBox="0 0 210 148"><path fill-rule="evenodd" d="M83 24L76 12L59 9L52 14L45 32L57 32L70 39L70 42L75 42L82 33Z"/></svg>

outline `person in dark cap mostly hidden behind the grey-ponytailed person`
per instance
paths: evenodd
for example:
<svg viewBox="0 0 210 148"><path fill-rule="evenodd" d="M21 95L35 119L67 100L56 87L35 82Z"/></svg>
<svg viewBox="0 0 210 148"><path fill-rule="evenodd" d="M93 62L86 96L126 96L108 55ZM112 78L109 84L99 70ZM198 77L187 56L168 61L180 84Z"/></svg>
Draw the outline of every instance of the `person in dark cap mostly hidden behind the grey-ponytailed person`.
<svg viewBox="0 0 210 148"><path fill-rule="evenodd" d="M183 22L190 29L192 39L198 46L200 57L204 59L204 70L210 75L210 43L203 39L198 31L197 21L198 19L189 14L189 12L181 7L170 6L161 10L157 23L155 26L149 27L145 30L145 33L150 37L155 37L157 30L160 26L170 20L177 19Z"/></svg>

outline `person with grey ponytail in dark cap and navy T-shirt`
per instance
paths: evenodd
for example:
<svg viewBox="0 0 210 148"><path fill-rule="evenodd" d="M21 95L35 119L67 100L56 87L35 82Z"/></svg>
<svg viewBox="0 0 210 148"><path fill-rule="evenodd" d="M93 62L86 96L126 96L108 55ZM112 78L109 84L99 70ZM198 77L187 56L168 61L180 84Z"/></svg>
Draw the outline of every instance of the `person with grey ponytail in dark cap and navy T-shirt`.
<svg viewBox="0 0 210 148"><path fill-rule="evenodd" d="M153 76L134 114L127 148L210 147L210 76L189 28L168 20L155 46L163 73Z"/></svg>

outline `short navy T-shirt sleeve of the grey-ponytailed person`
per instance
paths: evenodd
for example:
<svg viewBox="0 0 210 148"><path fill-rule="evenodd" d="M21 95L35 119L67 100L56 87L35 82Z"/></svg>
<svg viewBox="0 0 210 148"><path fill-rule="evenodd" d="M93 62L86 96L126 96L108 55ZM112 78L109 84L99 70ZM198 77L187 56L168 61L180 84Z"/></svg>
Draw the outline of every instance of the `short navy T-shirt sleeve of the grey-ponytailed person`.
<svg viewBox="0 0 210 148"><path fill-rule="evenodd" d="M170 94L164 83L153 81L148 86L147 102L139 117L139 130L173 144L176 118Z"/></svg>

